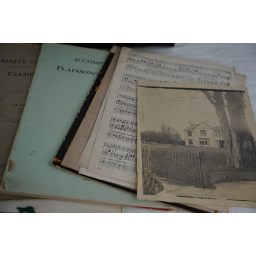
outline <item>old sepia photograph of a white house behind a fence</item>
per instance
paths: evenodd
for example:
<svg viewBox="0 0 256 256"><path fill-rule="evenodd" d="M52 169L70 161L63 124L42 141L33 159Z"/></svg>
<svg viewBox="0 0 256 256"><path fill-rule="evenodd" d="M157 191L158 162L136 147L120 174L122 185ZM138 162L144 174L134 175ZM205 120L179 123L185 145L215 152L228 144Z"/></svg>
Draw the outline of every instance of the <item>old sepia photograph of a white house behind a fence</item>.
<svg viewBox="0 0 256 256"><path fill-rule="evenodd" d="M138 105L143 196L256 202L246 88L139 82Z"/></svg>

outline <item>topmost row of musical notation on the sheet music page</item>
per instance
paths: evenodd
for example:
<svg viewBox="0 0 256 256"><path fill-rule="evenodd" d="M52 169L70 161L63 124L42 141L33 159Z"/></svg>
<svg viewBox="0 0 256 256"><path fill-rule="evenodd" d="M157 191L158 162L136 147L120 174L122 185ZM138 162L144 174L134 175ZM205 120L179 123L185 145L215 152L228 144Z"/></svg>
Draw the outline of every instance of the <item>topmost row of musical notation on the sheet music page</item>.
<svg viewBox="0 0 256 256"><path fill-rule="evenodd" d="M128 61L137 65L151 67L154 69L161 69L167 72L187 73L191 75L199 75L202 77L213 73L215 78L231 79L231 72L223 69L213 69L194 65L180 64L134 54L129 54Z"/></svg>

